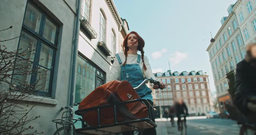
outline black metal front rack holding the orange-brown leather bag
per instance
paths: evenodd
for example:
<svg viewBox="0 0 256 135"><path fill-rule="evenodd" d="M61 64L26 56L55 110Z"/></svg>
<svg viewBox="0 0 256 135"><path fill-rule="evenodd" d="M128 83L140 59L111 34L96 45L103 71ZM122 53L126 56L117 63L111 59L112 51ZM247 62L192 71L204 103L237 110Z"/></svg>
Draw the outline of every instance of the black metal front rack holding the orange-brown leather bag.
<svg viewBox="0 0 256 135"><path fill-rule="evenodd" d="M135 119L135 120L129 120L129 121L123 121L118 122L117 120L117 106L120 104L127 104L127 103L133 103L133 102L142 102L148 107L148 118L142 118L142 119ZM101 125L100 122L100 110L103 108L114 106L114 118L115 122L108 125ZM82 116L83 113L86 113L90 110L97 110L98 111L98 125L97 126L87 126L82 125L82 128L75 129L76 132L79 133L86 133L86 134L94 134L94 135L108 135L108 134L116 134L119 132L127 132L127 131L135 131L135 130L142 130L142 129L148 129L157 127L154 120L154 108L151 106L151 104L146 99L135 99L135 100L128 100L124 102L117 102L113 104L106 104L102 106L95 106L88 109L81 109L75 111L76 115ZM82 122L84 123L84 122Z"/></svg>

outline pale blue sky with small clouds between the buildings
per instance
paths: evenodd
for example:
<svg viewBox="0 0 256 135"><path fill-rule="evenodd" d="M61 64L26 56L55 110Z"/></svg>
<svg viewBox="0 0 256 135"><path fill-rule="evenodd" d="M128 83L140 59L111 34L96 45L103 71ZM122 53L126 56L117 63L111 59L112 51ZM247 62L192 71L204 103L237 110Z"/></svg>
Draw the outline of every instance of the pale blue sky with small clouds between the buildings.
<svg viewBox="0 0 256 135"><path fill-rule="evenodd" d="M114 0L130 31L145 41L145 55L153 73L157 71L207 72L215 94L207 47L228 16L227 9L236 0Z"/></svg>

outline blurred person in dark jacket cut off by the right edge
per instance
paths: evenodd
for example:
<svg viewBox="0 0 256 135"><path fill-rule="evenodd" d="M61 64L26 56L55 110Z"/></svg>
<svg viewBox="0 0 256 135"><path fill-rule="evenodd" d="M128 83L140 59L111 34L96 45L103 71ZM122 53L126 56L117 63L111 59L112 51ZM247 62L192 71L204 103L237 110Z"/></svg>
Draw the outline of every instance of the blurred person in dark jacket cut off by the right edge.
<svg viewBox="0 0 256 135"><path fill-rule="evenodd" d="M235 104L246 117L256 119L256 43L248 45L245 59L236 65Z"/></svg>

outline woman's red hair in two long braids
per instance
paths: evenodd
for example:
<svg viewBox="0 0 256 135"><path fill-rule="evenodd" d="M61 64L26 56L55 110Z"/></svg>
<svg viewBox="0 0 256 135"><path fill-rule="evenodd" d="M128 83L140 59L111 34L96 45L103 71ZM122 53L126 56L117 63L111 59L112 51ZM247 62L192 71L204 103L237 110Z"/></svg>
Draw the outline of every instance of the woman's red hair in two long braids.
<svg viewBox="0 0 256 135"><path fill-rule="evenodd" d="M137 37L137 42L138 42L138 51L141 51L141 59L142 59L142 62L143 62L143 68L144 70L146 71L147 70L147 67L146 65L144 64L144 51L143 51L143 48L145 46L145 42L144 40L141 38L140 35L138 35L137 32L130 32L128 33L126 36L125 36L125 39L124 39L124 42L123 42L123 50L124 50L124 53L125 53L125 62L123 64L123 66L125 66L126 64L126 60L127 60L127 55L128 55L128 51L129 51L129 48L128 48L128 37L129 35L131 34L135 34L136 37Z"/></svg>

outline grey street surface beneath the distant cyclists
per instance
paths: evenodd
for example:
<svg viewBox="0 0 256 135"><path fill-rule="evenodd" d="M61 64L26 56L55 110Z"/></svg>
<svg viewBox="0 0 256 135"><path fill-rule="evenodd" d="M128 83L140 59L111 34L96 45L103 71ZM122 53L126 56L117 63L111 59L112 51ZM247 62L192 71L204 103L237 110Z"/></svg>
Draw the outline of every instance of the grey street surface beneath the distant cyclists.
<svg viewBox="0 0 256 135"><path fill-rule="evenodd" d="M170 118L168 121L163 118L156 119L158 135L180 135L177 131L177 119L175 127L171 126ZM206 119L201 117L187 118L187 135L239 135L239 125L230 119Z"/></svg>

